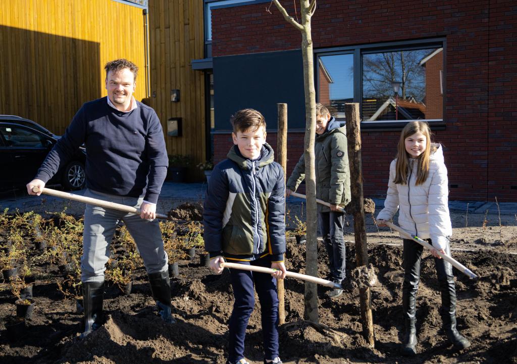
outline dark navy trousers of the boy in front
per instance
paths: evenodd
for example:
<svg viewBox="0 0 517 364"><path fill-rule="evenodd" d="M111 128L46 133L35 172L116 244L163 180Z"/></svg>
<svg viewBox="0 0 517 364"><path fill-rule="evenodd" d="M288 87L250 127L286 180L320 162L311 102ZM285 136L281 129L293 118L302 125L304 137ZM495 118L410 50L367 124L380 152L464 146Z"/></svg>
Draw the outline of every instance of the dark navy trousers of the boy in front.
<svg viewBox="0 0 517 364"><path fill-rule="evenodd" d="M271 267L269 257L252 261L233 261L259 267ZM271 274L257 273L248 270L230 269L235 303L230 317L229 358L236 362L244 358L244 339L246 327L255 307L255 292L257 291L262 314L262 336L264 338L264 358L275 359L278 355L278 295L277 280Z"/></svg>

